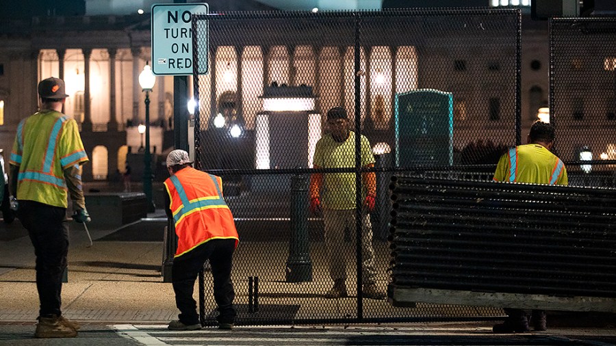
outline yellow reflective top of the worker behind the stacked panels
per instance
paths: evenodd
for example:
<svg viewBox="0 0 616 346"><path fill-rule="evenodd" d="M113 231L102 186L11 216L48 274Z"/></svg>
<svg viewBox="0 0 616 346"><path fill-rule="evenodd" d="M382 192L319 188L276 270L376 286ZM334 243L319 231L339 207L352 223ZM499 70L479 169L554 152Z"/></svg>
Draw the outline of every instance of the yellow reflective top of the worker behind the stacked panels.
<svg viewBox="0 0 616 346"><path fill-rule="evenodd" d="M498 162L495 181L567 185L567 170L561 159L540 144L510 148Z"/></svg>

